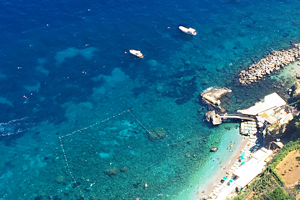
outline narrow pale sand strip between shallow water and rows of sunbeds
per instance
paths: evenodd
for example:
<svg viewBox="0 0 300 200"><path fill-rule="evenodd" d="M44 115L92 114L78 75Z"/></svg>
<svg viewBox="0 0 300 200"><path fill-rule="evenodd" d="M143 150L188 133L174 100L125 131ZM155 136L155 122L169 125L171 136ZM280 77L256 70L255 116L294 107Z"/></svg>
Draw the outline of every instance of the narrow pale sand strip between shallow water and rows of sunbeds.
<svg viewBox="0 0 300 200"><path fill-rule="evenodd" d="M246 145L249 139L249 137L247 136L244 136L244 138L245 139L243 139L239 145L240 147L233 152L232 156L228 157L226 160L223 161L223 163L228 163L226 165L226 169L220 167L220 170L214 176L208 178L205 186L199 187L199 189L195 193L193 193L192 199L201 199L203 196L209 195L212 192L212 190L214 190L214 187L219 183L222 177L226 174L227 170L229 170L232 167L233 163L238 159L241 150L244 148L244 146ZM202 193L203 190L205 191L204 193Z"/></svg>

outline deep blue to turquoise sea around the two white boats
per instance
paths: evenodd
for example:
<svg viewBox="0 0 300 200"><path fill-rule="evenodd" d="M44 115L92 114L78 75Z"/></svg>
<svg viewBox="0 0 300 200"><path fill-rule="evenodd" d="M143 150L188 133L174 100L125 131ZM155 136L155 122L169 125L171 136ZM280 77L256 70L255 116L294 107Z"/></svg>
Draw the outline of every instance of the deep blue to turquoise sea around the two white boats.
<svg viewBox="0 0 300 200"><path fill-rule="evenodd" d="M0 10L5 200L173 199L215 165L209 149L225 148L238 125L203 121L198 94L232 89L229 112L283 96L289 80L241 87L236 75L300 36L299 1L3 1ZM167 137L150 141L145 128Z"/></svg>

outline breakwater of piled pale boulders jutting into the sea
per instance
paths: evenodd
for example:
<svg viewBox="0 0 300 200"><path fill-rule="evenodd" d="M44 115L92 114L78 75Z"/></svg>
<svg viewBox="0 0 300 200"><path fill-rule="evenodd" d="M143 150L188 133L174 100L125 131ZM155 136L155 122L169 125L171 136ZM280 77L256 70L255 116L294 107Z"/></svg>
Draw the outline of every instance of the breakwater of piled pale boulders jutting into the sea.
<svg viewBox="0 0 300 200"><path fill-rule="evenodd" d="M242 85L250 85L271 74L273 70L280 70L295 61L300 61L300 43L294 44L294 48L289 50L272 51L266 58L252 64L248 70L242 70L239 81Z"/></svg>

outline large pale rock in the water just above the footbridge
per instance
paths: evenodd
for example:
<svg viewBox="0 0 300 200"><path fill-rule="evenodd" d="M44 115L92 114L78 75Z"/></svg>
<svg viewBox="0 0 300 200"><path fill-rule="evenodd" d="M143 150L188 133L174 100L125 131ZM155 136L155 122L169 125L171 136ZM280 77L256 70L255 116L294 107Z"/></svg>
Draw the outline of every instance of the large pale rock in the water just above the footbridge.
<svg viewBox="0 0 300 200"><path fill-rule="evenodd" d="M225 111L220 106L220 98L229 92L231 92L231 90L228 88L208 88L207 90L203 91L200 95L205 103L210 104L215 108L220 109L221 111Z"/></svg>

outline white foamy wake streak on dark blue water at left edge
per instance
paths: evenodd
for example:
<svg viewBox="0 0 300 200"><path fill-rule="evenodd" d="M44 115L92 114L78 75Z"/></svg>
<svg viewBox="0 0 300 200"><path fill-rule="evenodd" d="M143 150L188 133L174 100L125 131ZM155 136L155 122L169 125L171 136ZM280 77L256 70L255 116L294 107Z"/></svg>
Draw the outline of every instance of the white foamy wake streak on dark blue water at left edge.
<svg viewBox="0 0 300 200"><path fill-rule="evenodd" d="M28 117L0 123L0 136L9 136L29 130Z"/></svg>

